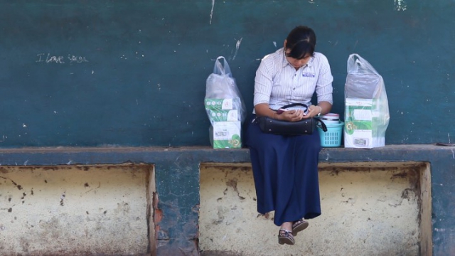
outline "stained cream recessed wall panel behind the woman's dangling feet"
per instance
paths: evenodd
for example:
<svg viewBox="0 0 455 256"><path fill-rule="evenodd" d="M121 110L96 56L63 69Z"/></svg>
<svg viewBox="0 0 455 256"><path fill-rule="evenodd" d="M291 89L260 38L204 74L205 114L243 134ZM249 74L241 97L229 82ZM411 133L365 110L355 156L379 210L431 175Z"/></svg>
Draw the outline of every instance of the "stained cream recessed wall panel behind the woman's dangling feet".
<svg viewBox="0 0 455 256"><path fill-rule="evenodd" d="M203 165L201 255L431 255L421 247L431 242L421 230L431 219L421 214L430 206L420 183L427 172L421 164L322 165L322 215L289 246L277 244L273 213L257 213L250 166Z"/></svg>

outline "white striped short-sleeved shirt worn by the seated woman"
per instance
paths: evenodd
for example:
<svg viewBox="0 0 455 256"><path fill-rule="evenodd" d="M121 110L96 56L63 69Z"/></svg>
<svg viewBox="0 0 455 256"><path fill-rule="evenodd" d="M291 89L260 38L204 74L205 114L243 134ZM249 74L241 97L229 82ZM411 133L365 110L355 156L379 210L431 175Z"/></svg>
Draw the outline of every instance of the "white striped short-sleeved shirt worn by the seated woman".
<svg viewBox="0 0 455 256"><path fill-rule="evenodd" d="M315 52L306 65L296 70L281 48L262 59L256 71L253 102L254 105L268 103L272 110L291 103L309 106L316 92L318 102L333 104L332 82L333 76L325 55Z"/></svg>

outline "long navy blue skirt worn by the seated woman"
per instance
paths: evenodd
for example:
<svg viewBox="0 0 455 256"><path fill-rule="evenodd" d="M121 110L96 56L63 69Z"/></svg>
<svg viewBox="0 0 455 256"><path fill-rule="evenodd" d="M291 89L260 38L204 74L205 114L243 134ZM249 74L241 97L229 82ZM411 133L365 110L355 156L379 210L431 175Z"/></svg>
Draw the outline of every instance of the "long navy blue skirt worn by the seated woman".
<svg viewBox="0 0 455 256"><path fill-rule="evenodd" d="M256 117L252 115L252 119ZM274 224L321 215L318 161L321 139L311 135L266 134L248 122L245 145L250 148L257 211L274 210Z"/></svg>

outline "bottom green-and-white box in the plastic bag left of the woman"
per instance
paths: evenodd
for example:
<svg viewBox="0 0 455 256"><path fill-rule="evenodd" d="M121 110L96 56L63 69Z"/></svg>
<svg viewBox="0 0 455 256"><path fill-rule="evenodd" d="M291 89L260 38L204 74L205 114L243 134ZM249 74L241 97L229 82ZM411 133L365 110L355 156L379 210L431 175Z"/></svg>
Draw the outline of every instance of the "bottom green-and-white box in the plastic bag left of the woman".
<svg viewBox="0 0 455 256"><path fill-rule="evenodd" d="M213 149L242 148L241 127L241 122L213 122L210 126Z"/></svg>

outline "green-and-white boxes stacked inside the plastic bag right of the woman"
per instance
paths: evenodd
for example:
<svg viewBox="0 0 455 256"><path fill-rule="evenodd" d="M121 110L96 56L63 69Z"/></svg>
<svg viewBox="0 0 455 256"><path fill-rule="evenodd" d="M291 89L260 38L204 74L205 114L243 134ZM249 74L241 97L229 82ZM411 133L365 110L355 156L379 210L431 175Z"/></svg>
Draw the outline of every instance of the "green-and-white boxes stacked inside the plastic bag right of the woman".
<svg viewBox="0 0 455 256"><path fill-rule="evenodd" d="M385 145L385 138L378 137L378 118L375 117L374 99L346 98L344 146L373 148Z"/></svg>

